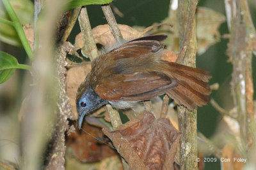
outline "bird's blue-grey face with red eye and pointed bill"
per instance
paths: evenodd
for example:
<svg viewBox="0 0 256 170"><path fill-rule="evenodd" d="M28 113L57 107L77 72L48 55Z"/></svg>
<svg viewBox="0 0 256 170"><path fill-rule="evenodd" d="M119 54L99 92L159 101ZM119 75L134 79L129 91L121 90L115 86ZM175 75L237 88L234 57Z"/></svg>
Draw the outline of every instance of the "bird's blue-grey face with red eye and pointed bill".
<svg viewBox="0 0 256 170"><path fill-rule="evenodd" d="M84 115L92 113L92 111L99 109L107 103L108 101L100 98L92 88L86 89L80 99L76 101L79 129L81 129Z"/></svg>

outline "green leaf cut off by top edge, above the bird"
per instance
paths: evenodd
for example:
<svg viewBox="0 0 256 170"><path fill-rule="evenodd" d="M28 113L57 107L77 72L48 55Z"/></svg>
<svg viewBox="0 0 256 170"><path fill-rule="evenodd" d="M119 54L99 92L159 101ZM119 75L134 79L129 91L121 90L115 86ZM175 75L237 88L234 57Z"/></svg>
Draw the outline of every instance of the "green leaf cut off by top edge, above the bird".
<svg viewBox="0 0 256 170"><path fill-rule="evenodd" d="M67 0L66 10L72 10L79 6L89 5L89 4L108 4L113 0Z"/></svg>

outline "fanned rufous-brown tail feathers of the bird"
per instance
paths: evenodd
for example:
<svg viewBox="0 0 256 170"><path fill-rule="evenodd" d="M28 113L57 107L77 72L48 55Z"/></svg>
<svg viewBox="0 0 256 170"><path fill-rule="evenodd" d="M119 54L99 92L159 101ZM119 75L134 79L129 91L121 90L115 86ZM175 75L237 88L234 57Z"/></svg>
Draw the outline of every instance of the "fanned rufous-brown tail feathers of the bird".
<svg viewBox="0 0 256 170"><path fill-rule="evenodd" d="M177 87L167 92L168 96L189 110L207 104L208 95L211 94L207 84L211 76L207 71L173 62L168 62L168 66L168 69L164 69L166 74L178 83Z"/></svg>

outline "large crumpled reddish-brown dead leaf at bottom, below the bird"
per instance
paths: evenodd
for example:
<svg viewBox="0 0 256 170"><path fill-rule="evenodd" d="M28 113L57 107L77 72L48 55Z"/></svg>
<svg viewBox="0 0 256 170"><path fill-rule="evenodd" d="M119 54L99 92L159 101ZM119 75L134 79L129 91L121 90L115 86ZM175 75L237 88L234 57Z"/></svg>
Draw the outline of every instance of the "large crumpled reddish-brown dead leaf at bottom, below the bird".
<svg viewBox="0 0 256 170"><path fill-rule="evenodd" d="M102 131L131 169L173 169L180 132L167 118L156 119L144 111L116 131Z"/></svg>

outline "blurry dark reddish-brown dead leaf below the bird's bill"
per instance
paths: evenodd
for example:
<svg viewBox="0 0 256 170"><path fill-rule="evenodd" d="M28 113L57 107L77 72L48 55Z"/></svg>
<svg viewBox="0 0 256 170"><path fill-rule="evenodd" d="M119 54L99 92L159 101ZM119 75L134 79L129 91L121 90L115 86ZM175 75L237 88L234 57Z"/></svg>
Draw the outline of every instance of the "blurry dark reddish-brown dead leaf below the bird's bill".
<svg viewBox="0 0 256 170"><path fill-rule="evenodd" d="M113 148L93 138L104 138L100 128L83 124L82 129L87 133L76 129L67 136L68 154L81 162L95 162L117 154Z"/></svg>

